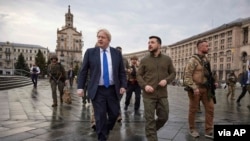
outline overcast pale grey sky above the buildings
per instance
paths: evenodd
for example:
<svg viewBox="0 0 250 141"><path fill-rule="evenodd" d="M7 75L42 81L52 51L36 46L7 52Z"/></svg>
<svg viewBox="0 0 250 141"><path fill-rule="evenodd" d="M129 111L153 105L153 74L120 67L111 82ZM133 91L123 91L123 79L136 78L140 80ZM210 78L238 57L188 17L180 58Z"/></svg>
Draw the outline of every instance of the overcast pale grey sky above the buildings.
<svg viewBox="0 0 250 141"><path fill-rule="evenodd" d="M57 29L65 25L68 5L84 47L96 32L111 32L111 46L123 53L147 49L148 37L173 44L238 18L250 17L250 0L0 0L0 42L34 44L55 51Z"/></svg>

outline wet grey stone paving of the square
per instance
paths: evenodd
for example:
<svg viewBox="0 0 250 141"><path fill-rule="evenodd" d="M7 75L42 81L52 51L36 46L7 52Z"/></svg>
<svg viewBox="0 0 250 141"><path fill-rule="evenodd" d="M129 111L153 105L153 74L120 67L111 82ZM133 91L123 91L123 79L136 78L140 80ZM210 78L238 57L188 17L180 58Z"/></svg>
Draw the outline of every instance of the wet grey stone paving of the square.
<svg viewBox="0 0 250 141"><path fill-rule="evenodd" d="M82 104L71 89L72 104L59 104L52 108L51 90L48 80L39 80L37 89L25 86L0 91L0 140L1 141L96 141L90 128L90 107ZM188 134L188 97L183 87L168 86L169 120L158 131L159 141L206 141L204 137L204 109L197 114L200 137L194 139ZM235 100L226 100L227 90L217 89L215 124L250 124L250 96L246 95L237 107ZM236 90L236 97L240 94ZM109 141L146 141L143 102L140 113L134 113L134 98L127 111L123 111L122 122L111 131Z"/></svg>

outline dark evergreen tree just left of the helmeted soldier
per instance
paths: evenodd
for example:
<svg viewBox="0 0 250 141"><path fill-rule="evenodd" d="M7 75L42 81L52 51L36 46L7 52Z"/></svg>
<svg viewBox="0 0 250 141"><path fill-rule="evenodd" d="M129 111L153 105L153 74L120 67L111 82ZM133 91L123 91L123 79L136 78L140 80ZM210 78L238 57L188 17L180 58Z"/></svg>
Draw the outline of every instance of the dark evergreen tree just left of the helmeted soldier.
<svg viewBox="0 0 250 141"><path fill-rule="evenodd" d="M40 74L42 76L47 74L46 60L40 49L38 50L38 53L36 54L35 63L40 68L40 71L41 71Z"/></svg>

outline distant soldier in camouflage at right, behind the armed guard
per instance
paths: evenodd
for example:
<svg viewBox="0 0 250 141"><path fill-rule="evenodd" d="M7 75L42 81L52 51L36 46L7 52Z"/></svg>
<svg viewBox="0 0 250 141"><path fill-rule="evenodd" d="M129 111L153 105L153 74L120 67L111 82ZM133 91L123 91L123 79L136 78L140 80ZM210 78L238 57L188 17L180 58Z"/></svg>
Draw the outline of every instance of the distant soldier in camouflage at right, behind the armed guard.
<svg viewBox="0 0 250 141"><path fill-rule="evenodd" d="M228 77L227 77L227 87L228 87L228 93L227 93L227 98L231 94L231 100L234 100L234 94L235 94L235 85L237 82L237 76L234 74L232 71Z"/></svg>

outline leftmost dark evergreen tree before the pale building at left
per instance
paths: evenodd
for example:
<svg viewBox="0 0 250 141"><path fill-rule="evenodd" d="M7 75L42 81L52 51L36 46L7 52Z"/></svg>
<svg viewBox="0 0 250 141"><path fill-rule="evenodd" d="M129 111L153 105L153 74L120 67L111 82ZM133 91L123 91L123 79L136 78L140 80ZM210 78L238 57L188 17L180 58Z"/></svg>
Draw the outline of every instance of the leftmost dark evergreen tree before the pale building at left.
<svg viewBox="0 0 250 141"><path fill-rule="evenodd" d="M17 62L15 63L15 69L15 74L25 73L29 76L30 69L22 53L18 56Z"/></svg>

